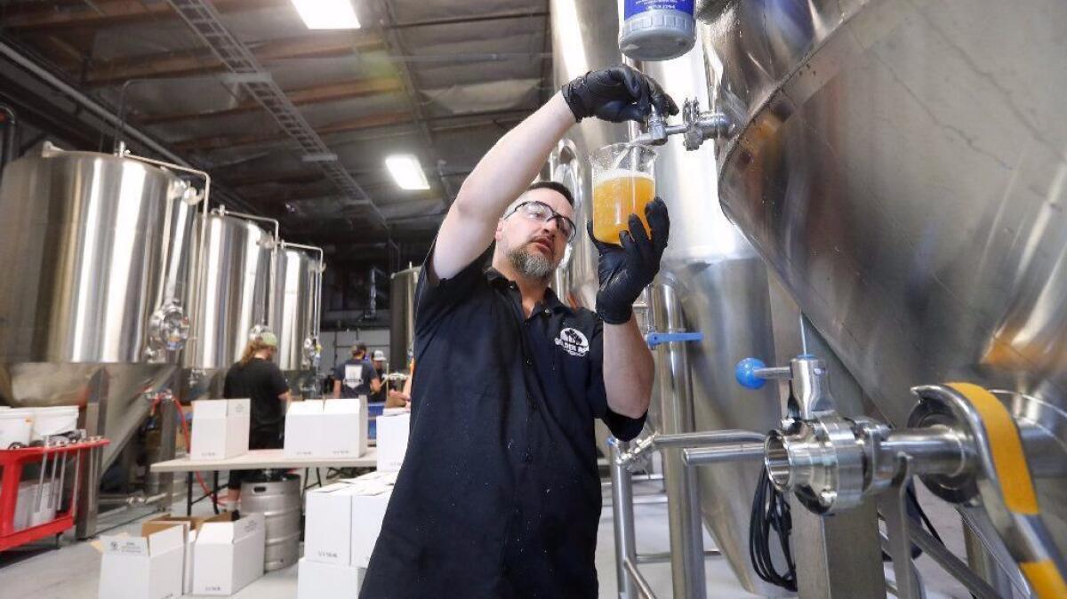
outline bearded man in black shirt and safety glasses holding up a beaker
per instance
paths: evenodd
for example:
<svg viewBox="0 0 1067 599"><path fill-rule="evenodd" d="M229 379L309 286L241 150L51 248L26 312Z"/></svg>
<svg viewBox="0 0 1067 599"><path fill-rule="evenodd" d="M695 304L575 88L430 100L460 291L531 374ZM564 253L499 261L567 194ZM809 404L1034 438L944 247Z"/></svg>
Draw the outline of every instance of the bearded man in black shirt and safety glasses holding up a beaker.
<svg viewBox="0 0 1067 599"><path fill-rule="evenodd" d="M651 239L635 215L620 246L598 244L596 313L572 309L547 287L578 233L570 193L527 183L576 120L640 119L653 104L678 111L630 67L587 74L463 183L416 289L408 458L364 599L596 597L593 419L621 439L644 423L653 362L632 305L658 270L669 222L657 199Z"/></svg>

